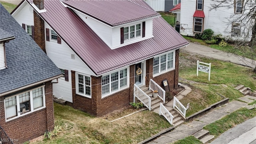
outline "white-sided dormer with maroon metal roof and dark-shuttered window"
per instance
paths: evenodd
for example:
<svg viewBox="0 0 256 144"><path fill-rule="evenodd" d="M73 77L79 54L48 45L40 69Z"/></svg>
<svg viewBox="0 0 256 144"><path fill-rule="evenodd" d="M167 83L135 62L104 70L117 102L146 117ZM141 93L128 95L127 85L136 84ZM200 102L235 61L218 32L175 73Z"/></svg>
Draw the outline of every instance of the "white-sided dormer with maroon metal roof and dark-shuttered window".
<svg viewBox="0 0 256 144"><path fill-rule="evenodd" d="M153 18L160 16L128 0L64 0L111 49L153 36Z"/></svg>

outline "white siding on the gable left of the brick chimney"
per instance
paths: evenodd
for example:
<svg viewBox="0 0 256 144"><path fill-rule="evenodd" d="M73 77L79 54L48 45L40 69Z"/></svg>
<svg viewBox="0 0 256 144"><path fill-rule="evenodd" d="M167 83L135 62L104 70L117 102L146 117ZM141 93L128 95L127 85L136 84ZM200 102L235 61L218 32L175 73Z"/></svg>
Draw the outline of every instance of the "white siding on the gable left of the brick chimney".
<svg viewBox="0 0 256 144"><path fill-rule="evenodd" d="M12 14L14 19L22 26L22 24L34 26L33 8L26 2L22 4L19 11Z"/></svg>

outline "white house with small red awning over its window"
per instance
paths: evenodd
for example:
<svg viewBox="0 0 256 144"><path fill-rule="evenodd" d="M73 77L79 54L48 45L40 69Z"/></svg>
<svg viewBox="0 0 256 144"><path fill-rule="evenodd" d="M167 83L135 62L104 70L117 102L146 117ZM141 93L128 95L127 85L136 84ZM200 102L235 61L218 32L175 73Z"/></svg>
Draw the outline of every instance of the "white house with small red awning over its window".
<svg viewBox="0 0 256 144"><path fill-rule="evenodd" d="M213 9L214 4L219 5ZM170 12L177 14L180 22L180 34L195 36L206 29L212 29L214 34L222 34L224 38L243 38L251 28L246 26L243 15L250 8L243 0L230 0L221 3L214 0L181 0L180 8L173 8ZM243 23L244 22L244 23ZM250 34L249 34L250 36Z"/></svg>

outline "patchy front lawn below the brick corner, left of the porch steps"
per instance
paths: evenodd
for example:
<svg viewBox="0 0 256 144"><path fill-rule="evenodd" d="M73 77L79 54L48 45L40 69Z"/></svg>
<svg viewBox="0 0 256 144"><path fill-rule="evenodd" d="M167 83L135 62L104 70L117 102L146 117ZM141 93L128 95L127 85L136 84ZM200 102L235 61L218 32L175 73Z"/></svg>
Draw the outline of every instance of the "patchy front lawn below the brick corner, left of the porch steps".
<svg viewBox="0 0 256 144"><path fill-rule="evenodd" d="M54 117L55 124L64 130L51 140L30 144L136 144L171 126L164 117L148 110L109 122L57 103Z"/></svg>

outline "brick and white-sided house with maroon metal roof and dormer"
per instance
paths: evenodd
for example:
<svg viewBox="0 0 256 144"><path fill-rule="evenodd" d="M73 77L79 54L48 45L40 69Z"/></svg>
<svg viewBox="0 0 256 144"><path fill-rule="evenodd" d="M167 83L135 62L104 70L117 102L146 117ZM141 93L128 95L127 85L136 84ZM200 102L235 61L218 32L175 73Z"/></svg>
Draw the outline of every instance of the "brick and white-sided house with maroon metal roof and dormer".
<svg viewBox="0 0 256 144"><path fill-rule="evenodd" d="M12 16L62 70L53 93L74 108L102 116L150 81L178 87L188 42L143 0L26 0Z"/></svg>

